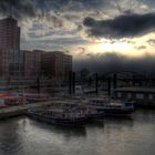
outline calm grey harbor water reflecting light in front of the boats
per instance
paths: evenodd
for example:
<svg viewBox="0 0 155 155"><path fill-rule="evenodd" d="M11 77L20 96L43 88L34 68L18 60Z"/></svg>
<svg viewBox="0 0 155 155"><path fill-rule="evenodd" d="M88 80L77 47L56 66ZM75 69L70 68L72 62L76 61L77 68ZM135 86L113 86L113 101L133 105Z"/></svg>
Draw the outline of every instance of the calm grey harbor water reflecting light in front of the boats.
<svg viewBox="0 0 155 155"><path fill-rule="evenodd" d="M155 155L155 111L81 127L28 117L0 121L0 155Z"/></svg>

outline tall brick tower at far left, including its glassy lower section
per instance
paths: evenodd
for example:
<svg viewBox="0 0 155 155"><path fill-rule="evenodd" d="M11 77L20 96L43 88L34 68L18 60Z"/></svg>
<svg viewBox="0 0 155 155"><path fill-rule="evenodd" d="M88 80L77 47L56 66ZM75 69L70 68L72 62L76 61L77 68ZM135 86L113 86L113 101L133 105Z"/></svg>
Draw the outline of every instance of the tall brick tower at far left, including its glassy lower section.
<svg viewBox="0 0 155 155"><path fill-rule="evenodd" d="M0 20L0 76L23 75L23 53L20 52L20 27L12 17Z"/></svg>

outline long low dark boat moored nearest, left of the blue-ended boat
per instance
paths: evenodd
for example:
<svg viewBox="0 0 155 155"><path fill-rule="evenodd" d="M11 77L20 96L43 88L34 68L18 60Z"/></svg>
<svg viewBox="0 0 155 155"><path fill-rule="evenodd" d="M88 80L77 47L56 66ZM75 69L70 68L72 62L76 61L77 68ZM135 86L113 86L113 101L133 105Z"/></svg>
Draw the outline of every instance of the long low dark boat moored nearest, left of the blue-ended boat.
<svg viewBox="0 0 155 155"><path fill-rule="evenodd" d="M39 121L60 125L83 125L86 121L82 111L73 112L70 108L60 107L29 110L28 115Z"/></svg>

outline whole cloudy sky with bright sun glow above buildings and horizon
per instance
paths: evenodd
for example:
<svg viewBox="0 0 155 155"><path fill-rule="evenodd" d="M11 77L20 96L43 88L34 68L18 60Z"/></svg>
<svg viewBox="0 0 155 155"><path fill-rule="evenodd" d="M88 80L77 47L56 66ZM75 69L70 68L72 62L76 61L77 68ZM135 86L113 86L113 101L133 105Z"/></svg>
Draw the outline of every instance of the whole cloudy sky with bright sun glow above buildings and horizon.
<svg viewBox="0 0 155 155"><path fill-rule="evenodd" d="M74 69L154 72L155 0L0 0L21 49L65 51Z"/></svg>

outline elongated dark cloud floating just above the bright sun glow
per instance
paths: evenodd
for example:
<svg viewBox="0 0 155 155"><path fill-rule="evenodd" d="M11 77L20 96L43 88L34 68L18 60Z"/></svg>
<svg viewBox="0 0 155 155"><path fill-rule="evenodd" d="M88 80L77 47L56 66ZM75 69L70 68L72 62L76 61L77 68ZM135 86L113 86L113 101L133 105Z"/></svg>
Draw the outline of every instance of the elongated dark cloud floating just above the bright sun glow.
<svg viewBox="0 0 155 155"><path fill-rule="evenodd" d="M86 17L83 24L90 37L133 38L155 31L155 13L128 13L107 20Z"/></svg>

